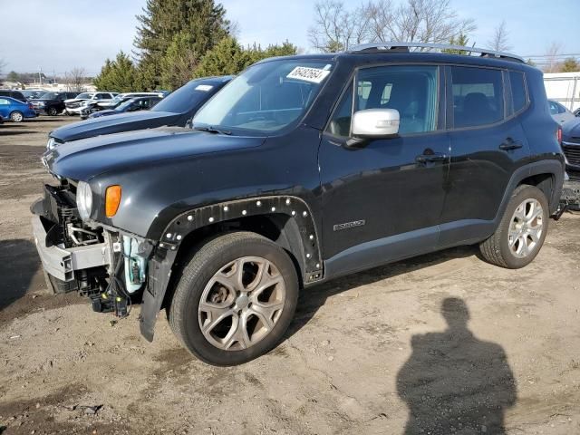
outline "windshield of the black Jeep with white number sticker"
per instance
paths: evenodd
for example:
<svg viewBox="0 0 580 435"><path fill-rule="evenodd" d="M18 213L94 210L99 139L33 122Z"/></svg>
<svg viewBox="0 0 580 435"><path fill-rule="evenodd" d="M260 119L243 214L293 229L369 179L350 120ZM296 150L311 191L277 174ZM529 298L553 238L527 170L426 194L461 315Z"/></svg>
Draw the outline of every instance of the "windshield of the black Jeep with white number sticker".
<svg viewBox="0 0 580 435"><path fill-rule="evenodd" d="M282 130L302 118L332 68L333 63L305 59L258 63L198 111L194 128Z"/></svg>

